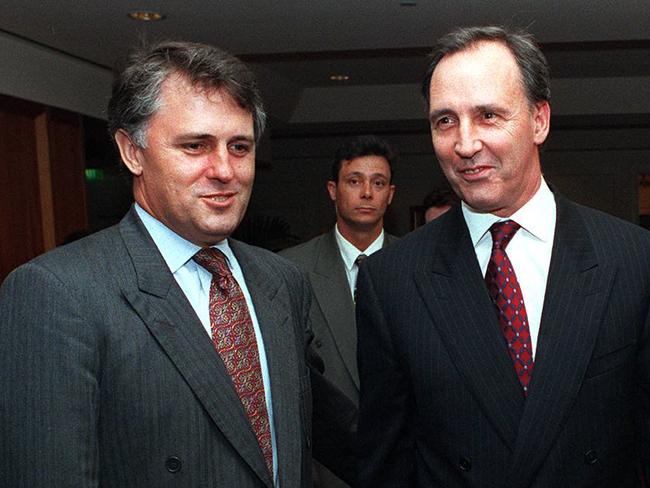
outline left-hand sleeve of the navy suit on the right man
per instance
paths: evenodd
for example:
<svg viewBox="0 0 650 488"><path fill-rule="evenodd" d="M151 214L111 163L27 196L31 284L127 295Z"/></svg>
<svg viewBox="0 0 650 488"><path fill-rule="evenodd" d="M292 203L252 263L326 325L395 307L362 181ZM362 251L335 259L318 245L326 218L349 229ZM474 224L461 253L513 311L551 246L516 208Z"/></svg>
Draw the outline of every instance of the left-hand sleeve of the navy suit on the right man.
<svg viewBox="0 0 650 488"><path fill-rule="evenodd" d="M404 488L414 483L412 400L388 318L373 286L372 275L379 273L373 264L361 268L357 283L359 487Z"/></svg>

